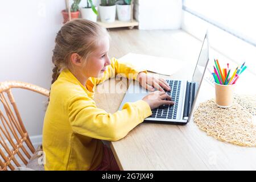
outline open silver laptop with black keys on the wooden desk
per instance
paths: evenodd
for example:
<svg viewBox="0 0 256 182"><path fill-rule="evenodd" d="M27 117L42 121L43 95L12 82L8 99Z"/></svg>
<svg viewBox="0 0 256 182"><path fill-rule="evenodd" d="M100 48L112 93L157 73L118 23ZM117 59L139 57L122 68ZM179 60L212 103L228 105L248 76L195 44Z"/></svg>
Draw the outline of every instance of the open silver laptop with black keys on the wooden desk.
<svg viewBox="0 0 256 182"><path fill-rule="evenodd" d="M195 65L192 80L166 80L171 91L166 91L171 96L174 105L162 105L152 110L152 115L144 119L144 122L170 123L186 125L192 116L192 110L199 93L201 83L209 61L208 33L204 36L199 58ZM139 85L138 81L131 82L119 110L122 110L126 102L142 100L150 91Z"/></svg>

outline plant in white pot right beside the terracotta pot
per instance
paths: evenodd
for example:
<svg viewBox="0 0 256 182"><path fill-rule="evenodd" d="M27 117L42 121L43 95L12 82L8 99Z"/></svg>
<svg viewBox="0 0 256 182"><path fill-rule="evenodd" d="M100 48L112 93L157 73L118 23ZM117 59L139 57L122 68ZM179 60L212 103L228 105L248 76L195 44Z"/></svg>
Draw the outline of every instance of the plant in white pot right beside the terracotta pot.
<svg viewBox="0 0 256 182"><path fill-rule="evenodd" d="M93 22L97 22L98 7L93 5L92 0L87 0L87 6L81 7L81 16L84 19L89 19Z"/></svg>

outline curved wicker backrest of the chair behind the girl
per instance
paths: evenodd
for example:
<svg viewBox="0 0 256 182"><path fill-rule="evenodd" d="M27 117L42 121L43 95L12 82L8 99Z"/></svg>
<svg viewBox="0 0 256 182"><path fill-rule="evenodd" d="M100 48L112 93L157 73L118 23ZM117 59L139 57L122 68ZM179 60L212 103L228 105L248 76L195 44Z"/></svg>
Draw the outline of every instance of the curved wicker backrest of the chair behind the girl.
<svg viewBox="0 0 256 182"><path fill-rule="evenodd" d="M26 165L35 152L11 93L12 88L27 89L49 97L49 90L40 86L18 81L0 82L0 171Z"/></svg>

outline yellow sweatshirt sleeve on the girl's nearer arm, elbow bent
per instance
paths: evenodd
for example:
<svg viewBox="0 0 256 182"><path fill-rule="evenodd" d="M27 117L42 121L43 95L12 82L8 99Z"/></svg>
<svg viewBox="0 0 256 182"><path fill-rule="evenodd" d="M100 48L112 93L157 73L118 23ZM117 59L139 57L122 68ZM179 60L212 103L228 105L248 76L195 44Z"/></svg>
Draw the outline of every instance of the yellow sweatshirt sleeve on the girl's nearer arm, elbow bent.
<svg viewBox="0 0 256 182"><path fill-rule="evenodd" d="M68 118L75 133L91 138L115 141L152 114L145 101L127 102L121 111L114 114L96 107L85 95L71 98L68 102Z"/></svg>

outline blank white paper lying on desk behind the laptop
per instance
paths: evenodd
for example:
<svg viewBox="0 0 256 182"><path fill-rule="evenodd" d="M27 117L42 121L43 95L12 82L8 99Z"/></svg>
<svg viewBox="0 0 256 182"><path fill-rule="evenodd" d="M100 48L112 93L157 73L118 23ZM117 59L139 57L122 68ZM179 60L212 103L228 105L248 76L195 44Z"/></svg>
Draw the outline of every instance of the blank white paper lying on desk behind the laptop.
<svg viewBox="0 0 256 182"><path fill-rule="evenodd" d="M187 62L178 59L141 55L137 53L128 53L119 58L118 61L132 64L138 69L146 69L147 71L168 76L173 75L187 65Z"/></svg>

